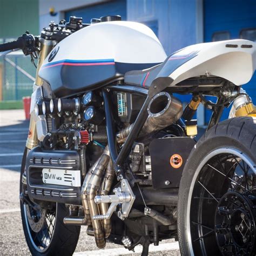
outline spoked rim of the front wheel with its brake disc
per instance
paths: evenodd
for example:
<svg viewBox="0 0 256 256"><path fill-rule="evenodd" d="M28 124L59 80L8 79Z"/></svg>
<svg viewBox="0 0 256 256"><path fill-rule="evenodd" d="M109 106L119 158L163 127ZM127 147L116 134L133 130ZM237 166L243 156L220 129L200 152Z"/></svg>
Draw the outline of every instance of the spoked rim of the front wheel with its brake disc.
<svg viewBox="0 0 256 256"><path fill-rule="evenodd" d="M23 205L26 230L33 247L45 252L52 241L56 224L56 206L52 210L35 210L28 204Z"/></svg>

